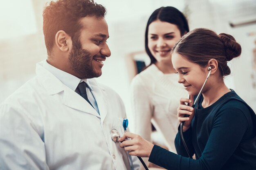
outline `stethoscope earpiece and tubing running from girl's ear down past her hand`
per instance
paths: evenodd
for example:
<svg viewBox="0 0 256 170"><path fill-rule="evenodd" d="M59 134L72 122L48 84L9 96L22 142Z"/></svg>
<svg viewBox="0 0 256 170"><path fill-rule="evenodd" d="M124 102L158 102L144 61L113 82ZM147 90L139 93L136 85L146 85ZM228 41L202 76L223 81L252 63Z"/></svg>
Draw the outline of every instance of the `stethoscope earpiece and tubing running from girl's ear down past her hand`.
<svg viewBox="0 0 256 170"><path fill-rule="evenodd" d="M205 84L206 84L206 82L207 82L207 80L208 80L208 78L209 78L209 76L211 74L211 67L208 67L208 71L209 71L209 73L208 73L208 75L207 75L207 77L206 77L206 79L204 81L204 84L203 84L202 88L200 89L200 92L198 93L198 96L195 98L195 101L193 102L193 105L191 106L193 108L195 107L195 103L198 101L198 98L201 96L202 90L203 90L203 88L204 88L204 86L205 86ZM188 105L189 105L189 103L188 103ZM189 115L185 115L184 117L189 117ZM192 157L190 156L190 153L189 153L189 148L188 148L188 146L186 146L186 142L185 142L185 139L183 137L183 131L182 130L183 130L184 123L185 123L185 121L181 122L181 124L180 124L180 138L181 138L181 140L183 142L183 145L184 145L184 147L186 149L186 152L188 153L189 157L192 159Z"/></svg>

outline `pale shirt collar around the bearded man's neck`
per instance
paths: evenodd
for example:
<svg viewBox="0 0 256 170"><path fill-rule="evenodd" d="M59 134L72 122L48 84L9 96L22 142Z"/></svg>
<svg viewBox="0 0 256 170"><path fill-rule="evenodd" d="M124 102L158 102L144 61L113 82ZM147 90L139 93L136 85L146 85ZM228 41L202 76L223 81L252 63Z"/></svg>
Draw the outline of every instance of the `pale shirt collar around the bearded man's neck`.
<svg viewBox="0 0 256 170"><path fill-rule="evenodd" d="M76 76L73 76L72 74L69 74L67 72L64 72L52 65L50 65L49 63L47 63L47 61L45 60L45 62L43 63L43 68L45 68L46 70L48 70L49 72L51 72L54 76L56 76L56 78L58 78L64 85L66 85L67 87L69 87L70 89L72 89L73 91L76 90L76 87L78 86L79 83L81 82L85 82L88 84L88 87L90 90L92 89L92 86L90 85L88 79L80 79L77 78Z"/></svg>

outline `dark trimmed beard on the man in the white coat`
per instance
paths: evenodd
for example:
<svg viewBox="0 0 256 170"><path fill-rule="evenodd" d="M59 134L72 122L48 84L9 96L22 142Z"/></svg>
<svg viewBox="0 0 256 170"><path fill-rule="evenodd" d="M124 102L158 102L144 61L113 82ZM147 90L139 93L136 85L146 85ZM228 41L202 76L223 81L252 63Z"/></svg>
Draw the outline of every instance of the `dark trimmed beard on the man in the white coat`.
<svg viewBox="0 0 256 170"><path fill-rule="evenodd" d="M82 48L79 39L73 39L73 48L70 51L68 60L70 67L78 75L78 78L94 78L101 76L101 72L96 72L92 65L92 54ZM105 56L102 56L105 58Z"/></svg>

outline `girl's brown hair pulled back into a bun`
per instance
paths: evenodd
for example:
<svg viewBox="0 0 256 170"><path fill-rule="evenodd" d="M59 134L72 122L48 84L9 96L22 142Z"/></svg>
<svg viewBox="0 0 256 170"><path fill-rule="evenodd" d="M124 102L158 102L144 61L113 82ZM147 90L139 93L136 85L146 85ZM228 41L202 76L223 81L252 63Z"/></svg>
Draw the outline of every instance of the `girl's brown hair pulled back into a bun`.
<svg viewBox="0 0 256 170"><path fill-rule="evenodd" d="M206 67L210 59L216 59L221 76L227 76L230 74L227 61L240 56L241 51L232 35L217 35L209 29L196 28L177 41L171 53L176 52L202 67Z"/></svg>

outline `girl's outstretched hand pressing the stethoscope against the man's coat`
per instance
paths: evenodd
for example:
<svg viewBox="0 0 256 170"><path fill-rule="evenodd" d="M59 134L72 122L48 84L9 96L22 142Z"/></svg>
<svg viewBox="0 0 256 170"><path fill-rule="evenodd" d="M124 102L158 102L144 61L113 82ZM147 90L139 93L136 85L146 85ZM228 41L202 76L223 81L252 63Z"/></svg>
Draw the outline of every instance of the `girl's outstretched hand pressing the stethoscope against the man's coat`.
<svg viewBox="0 0 256 170"><path fill-rule="evenodd" d="M125 141L126 138L131 138L131 140ZM129 132L124 133L124 136L120 137L118 141L121 142L121 148L124 148L125 151L130 151L130 155L139 157L149 157L154 146L140 135Z"/></svg>

